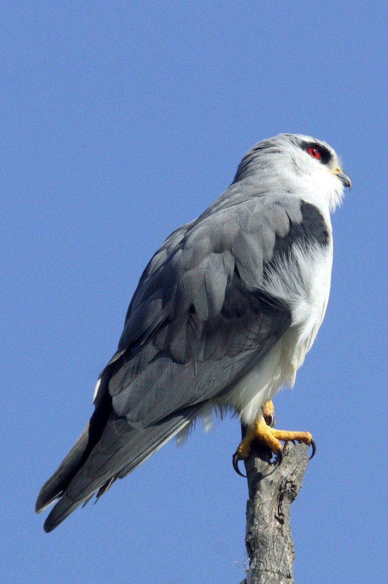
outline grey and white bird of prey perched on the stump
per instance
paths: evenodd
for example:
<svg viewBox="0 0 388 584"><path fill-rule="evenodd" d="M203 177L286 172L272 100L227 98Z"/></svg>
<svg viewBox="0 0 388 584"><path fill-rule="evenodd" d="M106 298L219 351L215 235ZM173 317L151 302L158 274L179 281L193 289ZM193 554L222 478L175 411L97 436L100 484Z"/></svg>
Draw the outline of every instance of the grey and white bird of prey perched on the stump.
<svg viewBox="0 0 388 584"><path fill-rule="evenodd" d="M246 426L233 456L258 439L275 454L309 432L275 429L271 398L292 386L330 290L330 211L351 180L320 140L279 134L243 157L229 188L167 237L128 308L95 410L41 488L51 531L102 495L195 418L235 411Z"/></svg>

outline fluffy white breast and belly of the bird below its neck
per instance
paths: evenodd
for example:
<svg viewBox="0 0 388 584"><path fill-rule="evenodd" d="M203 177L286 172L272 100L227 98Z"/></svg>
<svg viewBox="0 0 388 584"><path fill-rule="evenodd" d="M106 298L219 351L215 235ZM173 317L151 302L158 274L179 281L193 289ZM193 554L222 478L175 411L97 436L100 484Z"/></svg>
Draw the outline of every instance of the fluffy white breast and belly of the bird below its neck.
<svg viewBox="0 0 388 584"><path fill-rule="evenodd" d="M326 311L330 292L333 247L294 245L261 288L291 307L292 324L260 363L237 382L226 397L242 421L251 425L261 415L264 401L295 383L296 371L313 344Z"/></svg>

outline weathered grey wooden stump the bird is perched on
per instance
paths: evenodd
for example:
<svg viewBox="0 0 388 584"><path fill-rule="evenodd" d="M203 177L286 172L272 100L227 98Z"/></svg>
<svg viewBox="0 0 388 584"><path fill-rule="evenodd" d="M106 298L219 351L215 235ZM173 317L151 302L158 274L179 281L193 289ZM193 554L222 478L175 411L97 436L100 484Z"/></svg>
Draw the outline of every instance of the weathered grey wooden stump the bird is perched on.
<svg viewBox="0 0 388 584"><path fill-rule="evenodd" d="M249 570L240 584L293 584L289 513L302 486L308 449L306 444L286 443L282 463L274 468L268 450L258 446L246 461Z"/></svg>

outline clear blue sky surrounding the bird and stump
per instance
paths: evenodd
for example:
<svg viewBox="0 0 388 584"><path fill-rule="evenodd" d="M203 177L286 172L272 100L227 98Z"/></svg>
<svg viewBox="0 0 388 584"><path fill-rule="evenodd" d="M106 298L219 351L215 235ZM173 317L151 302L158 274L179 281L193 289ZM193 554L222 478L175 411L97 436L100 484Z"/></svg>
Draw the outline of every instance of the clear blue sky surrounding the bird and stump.
<svg viewBox="0 0 388 584"><path fill-rule="evenodd" d="M92 412L146 262L279 132L329 142L354 184L326 319L275 399L278 427L318 449L292 507L295 578L386 581L387 18L373 1L2 6L4 582L244 578L237 420L198 425L51 534L34 500Z"/></svg>

